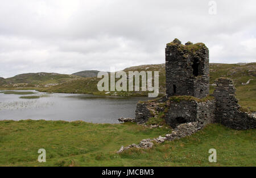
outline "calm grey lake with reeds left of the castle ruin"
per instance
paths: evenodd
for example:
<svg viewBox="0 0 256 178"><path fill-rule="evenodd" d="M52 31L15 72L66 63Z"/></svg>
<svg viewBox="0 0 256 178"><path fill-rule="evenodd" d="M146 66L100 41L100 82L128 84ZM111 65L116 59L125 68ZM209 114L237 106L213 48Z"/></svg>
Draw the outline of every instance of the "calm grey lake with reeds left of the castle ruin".
<svg viewBox="0 0 256 178"><path fill-rule="evenodd" d="M36 91L30 90L30 92ZM44 97L22 99L19 98L20 96ZM36 94L19 95L0 93L0 120L45 119L118 123L117 119L120 117L134 118L137 102L148 99L150 98L93 96L90 94L36 92Z"/></svg>

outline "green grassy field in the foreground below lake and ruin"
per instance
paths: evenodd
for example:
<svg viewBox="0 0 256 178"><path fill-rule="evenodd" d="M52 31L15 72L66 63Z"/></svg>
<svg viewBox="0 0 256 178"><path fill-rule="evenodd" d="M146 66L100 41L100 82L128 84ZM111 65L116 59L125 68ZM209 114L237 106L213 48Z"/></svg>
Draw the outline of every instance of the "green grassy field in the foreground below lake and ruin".
<svg viewBox="0 0 256 178"><path fill-rule="evenodd" d="M255 130L237 131L211 124L174 142L149 150L116 151L170 133L135 123L93 124L64 121L0 121L0 165L30 166L255 166ZM104 135L104 136L103 136ZM37 162L46 150L46 163ZM217 150L217 163L208 162L208 150Z"/></svg>

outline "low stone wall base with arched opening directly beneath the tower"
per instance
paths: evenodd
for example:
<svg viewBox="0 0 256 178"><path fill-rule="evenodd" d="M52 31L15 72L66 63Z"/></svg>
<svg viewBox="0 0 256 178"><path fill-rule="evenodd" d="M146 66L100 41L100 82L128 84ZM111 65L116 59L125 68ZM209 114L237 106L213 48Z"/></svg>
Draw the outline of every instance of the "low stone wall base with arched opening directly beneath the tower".
<svg viewBox="0 0 256 178"><path fill-rule="evenodd" d="M168 125L175 128L181 123L197 122L201 127L214 122L215 101L205 102L188 101L170 101L165 119Z"/></svg>

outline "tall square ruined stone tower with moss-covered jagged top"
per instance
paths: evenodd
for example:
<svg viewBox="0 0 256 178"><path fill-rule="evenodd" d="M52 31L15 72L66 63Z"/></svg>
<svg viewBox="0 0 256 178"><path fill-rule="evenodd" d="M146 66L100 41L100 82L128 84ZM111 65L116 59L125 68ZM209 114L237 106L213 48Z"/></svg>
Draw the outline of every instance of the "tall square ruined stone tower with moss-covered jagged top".
<svg viewBox="0 0 256 178"><path fill-rule="evenodd" d="M203 98L209 94L209 50L204 43L166 45L166 94Z"/></svg>

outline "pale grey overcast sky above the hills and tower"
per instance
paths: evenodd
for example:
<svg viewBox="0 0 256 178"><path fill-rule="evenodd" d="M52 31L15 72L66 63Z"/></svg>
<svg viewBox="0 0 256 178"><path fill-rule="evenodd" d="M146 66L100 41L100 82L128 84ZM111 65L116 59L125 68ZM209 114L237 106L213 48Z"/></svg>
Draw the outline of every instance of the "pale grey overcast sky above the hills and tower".
<svg viewBox="0 0 256 178"><path fill-rule="evenodd" d="M256 1L0 0L0 77L164 63L203 42L210 63L256 62Z"/></svg>

